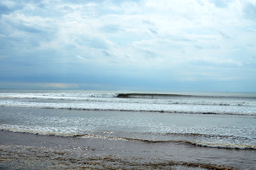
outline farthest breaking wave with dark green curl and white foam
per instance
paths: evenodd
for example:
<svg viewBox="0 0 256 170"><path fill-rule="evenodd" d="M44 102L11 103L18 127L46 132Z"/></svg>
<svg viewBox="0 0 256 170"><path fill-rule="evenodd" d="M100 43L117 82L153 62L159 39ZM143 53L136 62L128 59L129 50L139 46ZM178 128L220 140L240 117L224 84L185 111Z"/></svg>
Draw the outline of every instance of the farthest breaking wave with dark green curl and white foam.
<svg viewBox="0 0 256 170"><path fill-rule="evenodd" d="M1 94L0 98L14 99L43 99L62 101L96 101L96 102L117 102L117 103L156 103L156 104L184 104L184 105L220 105L220 106L256 106L255 97L237 97L235 101L207 101L202 99L212 98L208 96L176 95L176 94L118 94L118 93L37 93L37 94ZM198 98L199 100L189 100ZM214 97L216 98L216 97ZM226 97L218 97L226 98ZM229 97L230 98L230 97ZM253 101L239 101L249 98Z"/></svg>

